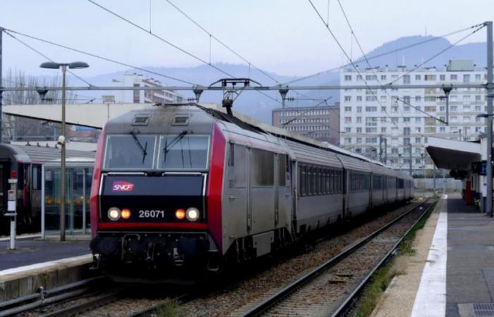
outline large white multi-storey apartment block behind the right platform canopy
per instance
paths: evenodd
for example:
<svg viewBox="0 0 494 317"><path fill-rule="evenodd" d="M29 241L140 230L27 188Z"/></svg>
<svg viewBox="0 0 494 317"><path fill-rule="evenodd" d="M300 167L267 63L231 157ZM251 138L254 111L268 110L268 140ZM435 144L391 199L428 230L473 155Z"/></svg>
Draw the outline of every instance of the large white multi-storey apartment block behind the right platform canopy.
<svg viewBox="0 0 494 317"><path fill-rule="evenodd" d="M340 73L340 85L396 85L486 83L486 69L475 68L474 61L450 61L446 68L417 68L409 72L405 66L397 69L373 68ZM405 75L406 74L406 75ZM365 80L365 82L364 82ZM486 131L486 89L458 88L450 92L449 125L430 116L446 120L445 93L442 89L344 89L340 92L340 144L342 147L374 159L382 159L394 168L408 170L410 144L412 168L431 169L426 155L427 137L445 137L474 141ZM402 100L411 106L404 104ZM425 111L426 113L422 113ZM384 139L387 151L384 154ZM422 173L421 171L418 173Z"/></svg>

